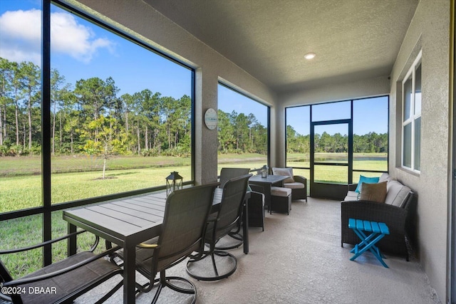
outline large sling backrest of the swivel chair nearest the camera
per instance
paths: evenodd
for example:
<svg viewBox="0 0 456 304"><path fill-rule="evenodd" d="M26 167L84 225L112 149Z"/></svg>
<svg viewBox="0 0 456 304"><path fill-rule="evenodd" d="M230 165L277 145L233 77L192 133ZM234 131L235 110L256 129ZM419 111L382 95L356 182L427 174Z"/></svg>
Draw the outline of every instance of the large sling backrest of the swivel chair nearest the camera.
<svg viewBox="0 0 456 304"><path fill-rule="evenodd" d="M167 197L159 250L154 251L155 271L160 272L204 246L207 217L218 183L172 192ZM152 270L152 273L155 271Z"/></svg>

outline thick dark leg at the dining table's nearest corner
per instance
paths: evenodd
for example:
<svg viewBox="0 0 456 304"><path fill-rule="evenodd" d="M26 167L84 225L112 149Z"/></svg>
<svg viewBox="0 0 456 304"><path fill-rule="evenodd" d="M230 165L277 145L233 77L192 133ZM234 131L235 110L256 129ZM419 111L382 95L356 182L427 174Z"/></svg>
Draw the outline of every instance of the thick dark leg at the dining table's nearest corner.
<svg viewBox="0 0 456 304"><path fill-rule="evenodd" d="M136 248L135 244L125 243L123 248L124 264L123 264L123 303L135 303L135 259Z"/></svg>

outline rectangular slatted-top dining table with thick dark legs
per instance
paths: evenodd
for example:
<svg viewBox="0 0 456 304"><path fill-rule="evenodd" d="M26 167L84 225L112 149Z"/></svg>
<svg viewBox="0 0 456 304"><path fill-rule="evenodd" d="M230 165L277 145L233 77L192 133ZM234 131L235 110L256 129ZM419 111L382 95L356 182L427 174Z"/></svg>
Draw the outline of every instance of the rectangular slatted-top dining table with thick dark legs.
<svg viewBox="0 0 456 304"><path fill-rule="evenodd" d="M243 246L246 254L249 252L248 198L249 193L244 199L243 215ZM69 231L76 231L76 227L80 227L123 247L123 303L135 303L135 246L160 235L165 203L165 192L153 192L63 211ZM218 204L219 201L214 200L212 209L217 209ZM76 246L68 252L74 253Z"/></svg>

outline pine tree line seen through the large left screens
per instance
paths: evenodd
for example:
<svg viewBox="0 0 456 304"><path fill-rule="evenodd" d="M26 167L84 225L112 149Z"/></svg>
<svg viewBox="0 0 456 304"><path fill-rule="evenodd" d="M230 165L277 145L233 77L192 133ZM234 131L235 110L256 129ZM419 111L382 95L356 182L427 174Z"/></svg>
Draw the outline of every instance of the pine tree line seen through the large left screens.
<svg viewBox="0 0 456 304"><path fill-rule="evenodd" d="M0 155L41 153L41 70L0 58ZM52 154L190 154L191 98L122 94L111 77L51 70Z"/></svg>

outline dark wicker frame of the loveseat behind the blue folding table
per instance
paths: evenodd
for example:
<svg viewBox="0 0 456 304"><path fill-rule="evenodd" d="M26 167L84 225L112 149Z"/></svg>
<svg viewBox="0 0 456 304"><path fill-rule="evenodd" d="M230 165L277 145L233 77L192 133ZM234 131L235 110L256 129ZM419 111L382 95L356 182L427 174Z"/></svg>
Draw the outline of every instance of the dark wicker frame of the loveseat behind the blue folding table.
<svg viewBox="0 0 456 304"><path fill-rule="evenodd" d="M341 246L343 243L356 245L360 239L348 228L348 219L378 221L388 225L390 234L381 239L376 246L381 251L405 256L408 261L407 242L415 242L415 212L417 198L409 192L403 208L373 201L341 202Z"/></svg>

